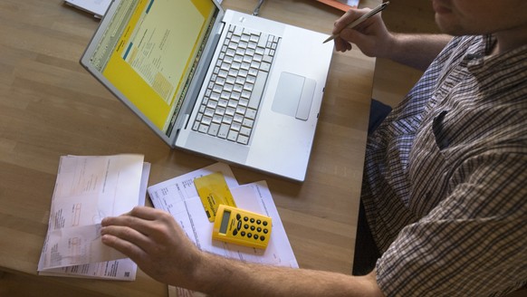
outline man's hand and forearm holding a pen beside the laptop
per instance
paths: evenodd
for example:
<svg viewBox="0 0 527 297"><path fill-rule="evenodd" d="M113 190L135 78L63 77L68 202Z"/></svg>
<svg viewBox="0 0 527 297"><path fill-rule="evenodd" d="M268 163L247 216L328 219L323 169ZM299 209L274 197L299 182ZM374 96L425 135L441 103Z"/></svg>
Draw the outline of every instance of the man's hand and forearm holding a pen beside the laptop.
<svg viewBox="0 0 527 297"><path fill-rule="evenodd" d="M392 34L379 14L353 29L346 28L367 12L369 9L351 9L335 22L332 34L340 33L334 41L337 51L349 51L354 43L370 57L387 58L425 71L452 39L446 34Z"/></svg>

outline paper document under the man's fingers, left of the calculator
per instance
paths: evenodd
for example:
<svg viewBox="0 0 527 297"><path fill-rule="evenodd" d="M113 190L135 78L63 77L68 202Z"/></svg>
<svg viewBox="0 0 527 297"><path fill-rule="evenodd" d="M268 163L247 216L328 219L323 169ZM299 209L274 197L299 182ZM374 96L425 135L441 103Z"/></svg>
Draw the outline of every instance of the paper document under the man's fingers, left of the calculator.
<svg viewBox="0 0 527 297"><path fill-rule="evenodd" d="M137 265L102 244L101 220L144 205L150 166L143 158L61 157L39 274L135 279Z"/></svg>

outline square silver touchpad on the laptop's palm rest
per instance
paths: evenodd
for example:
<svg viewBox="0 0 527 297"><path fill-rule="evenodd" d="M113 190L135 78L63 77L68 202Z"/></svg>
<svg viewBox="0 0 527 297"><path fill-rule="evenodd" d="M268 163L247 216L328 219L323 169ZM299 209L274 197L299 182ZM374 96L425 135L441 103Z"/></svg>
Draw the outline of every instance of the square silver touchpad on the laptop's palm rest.
<svg viewBox="0 0 527 297"><path fill-rule="evenodd" d="M316 81L306 77L282 72L272 110L299 120L308 120L316 84Z"/></svg>

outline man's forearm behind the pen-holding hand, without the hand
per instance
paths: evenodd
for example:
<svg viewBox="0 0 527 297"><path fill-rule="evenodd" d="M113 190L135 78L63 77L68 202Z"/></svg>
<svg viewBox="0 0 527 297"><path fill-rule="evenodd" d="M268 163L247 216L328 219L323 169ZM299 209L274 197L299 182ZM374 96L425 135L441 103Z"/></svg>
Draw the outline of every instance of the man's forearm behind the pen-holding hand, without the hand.
<svg viewBox="0 0 527 297"><path fill-rule="evenodd" d="M386 58L425 71L452 36L446 34L394 34Z"/></svg>

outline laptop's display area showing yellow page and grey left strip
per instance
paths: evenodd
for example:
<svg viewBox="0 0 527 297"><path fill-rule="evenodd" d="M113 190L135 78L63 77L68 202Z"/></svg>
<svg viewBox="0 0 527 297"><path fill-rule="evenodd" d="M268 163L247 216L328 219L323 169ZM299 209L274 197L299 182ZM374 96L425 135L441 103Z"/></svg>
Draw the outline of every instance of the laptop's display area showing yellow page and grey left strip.
<svg viewBox="0 0 527 297"><path fill-rule="evenodd" d="M122 0L117 5L90 62L168 135L217 7L203 0Z"/></svg>

